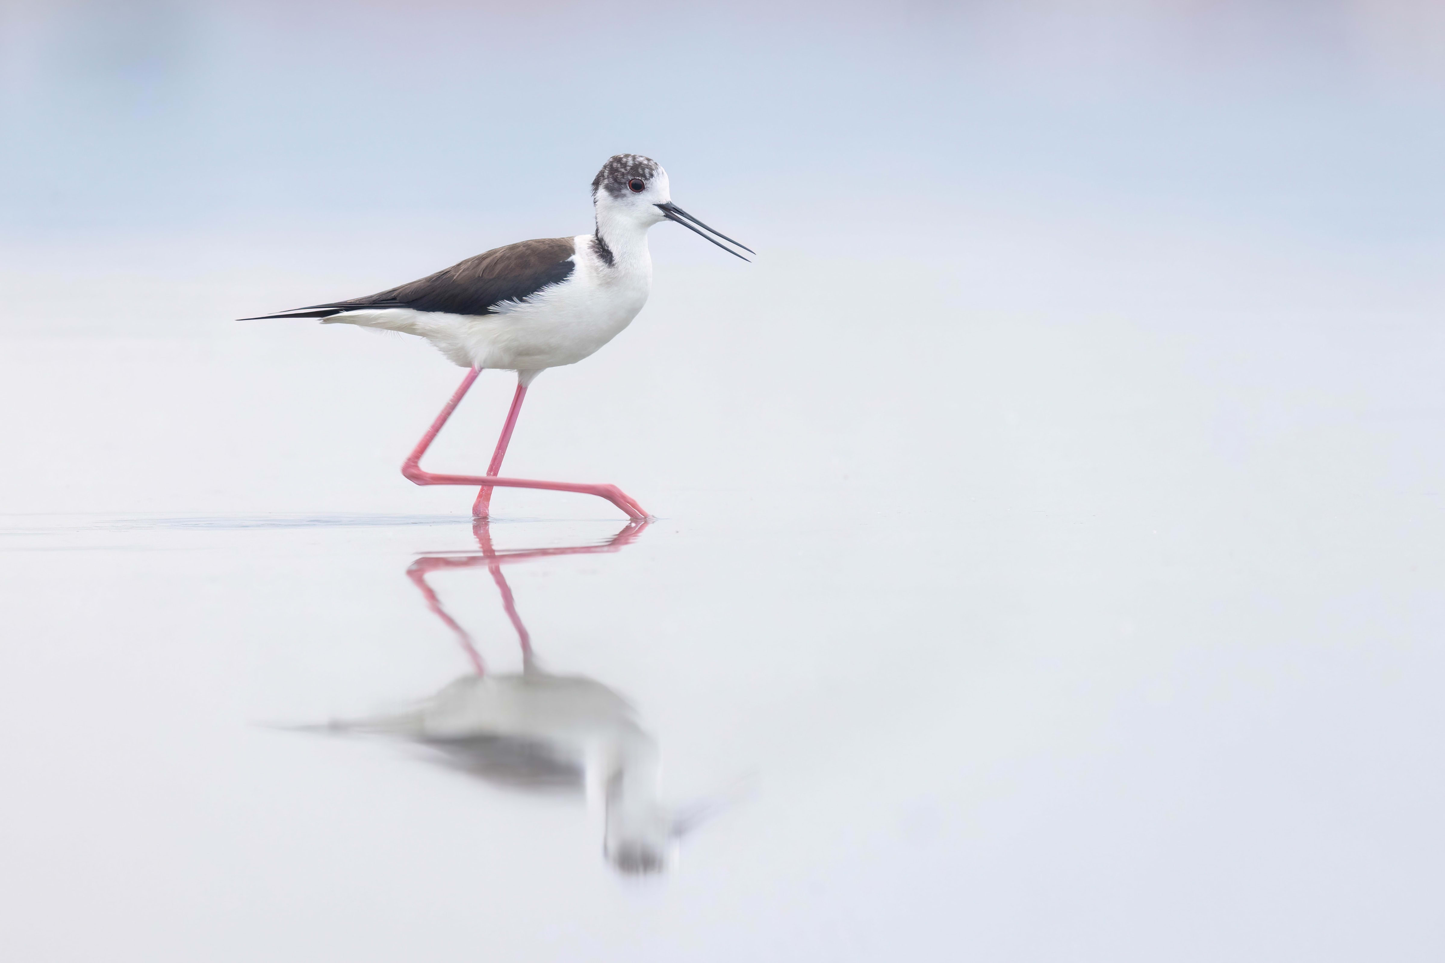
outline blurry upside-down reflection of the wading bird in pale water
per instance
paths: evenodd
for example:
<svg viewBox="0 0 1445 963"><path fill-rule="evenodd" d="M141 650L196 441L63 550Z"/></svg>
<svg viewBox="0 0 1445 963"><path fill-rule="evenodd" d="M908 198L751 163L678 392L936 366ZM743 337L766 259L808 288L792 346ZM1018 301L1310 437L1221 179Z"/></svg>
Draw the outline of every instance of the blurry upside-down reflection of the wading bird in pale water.
<svg viewBox="0 0 1445 963"><path fill-rule="evenodd" d="M587 676L546 671L517 614L504 565L551 556L617 552L633 543L644 520L629 523L601 544L497 550L486 520L473 530L480 552L431 553L407 567L426 605L445 622L471 660L473 671L403 712L334 720L329 732L379 733L420 744L439 761L497 785L581 791L604 813L603 852L620 872L657 873L669 868L676 840L715 809L665 806L657 796L657 744L637 722L631 705ZM522 644L520 673L491 673L471 635L442 606L426 576L486 567Z"/></svg>

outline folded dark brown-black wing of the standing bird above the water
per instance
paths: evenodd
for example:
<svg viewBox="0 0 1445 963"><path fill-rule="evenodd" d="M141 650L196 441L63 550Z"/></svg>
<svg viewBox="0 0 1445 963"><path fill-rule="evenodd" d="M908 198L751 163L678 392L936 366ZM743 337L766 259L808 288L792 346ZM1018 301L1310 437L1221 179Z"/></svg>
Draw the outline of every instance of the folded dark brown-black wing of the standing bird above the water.
<svg viewBox="0 0 1445 963"><path fill-rule="evenodd" d="M549 237L538 241L507 244L468 257L460 264L429 274L420 280L367 297L337 300L260 315L264 318L329 318L358 308L410 308L439 310L449 315L494 315L504 300L526 300L543 287L565 282L572 274L574 244L569 237Z"/></svg>

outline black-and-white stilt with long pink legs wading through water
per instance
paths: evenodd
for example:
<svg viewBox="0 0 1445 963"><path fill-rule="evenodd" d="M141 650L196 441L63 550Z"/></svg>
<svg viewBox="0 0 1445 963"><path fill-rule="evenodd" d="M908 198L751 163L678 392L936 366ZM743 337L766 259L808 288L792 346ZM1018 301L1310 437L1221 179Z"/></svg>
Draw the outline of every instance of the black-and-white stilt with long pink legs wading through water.
<svg viewBox="0 0 1445 963"><path fill-rule="evenodd" d="M400 331L426 338L451 361L468 368L461 387L402 463L402 474L418 485L477 485L471 510L475 518L488 515L494 487L597 495L631 518L646 518L642 505L616 485L497 475L527 385L546 368L577 364L595 352L647 303L652 290L647 228L653 224L673 221L737 257L743 256L722 241L754 251L675 205L668 172L640 154L616 154L603 165L592 180L592 206L597 217L591 234L509 244L377 295L243 321L319 318L322 323ZM483 368L517 372L517 391L487 474L422 471L422 455Z"/></svg>

